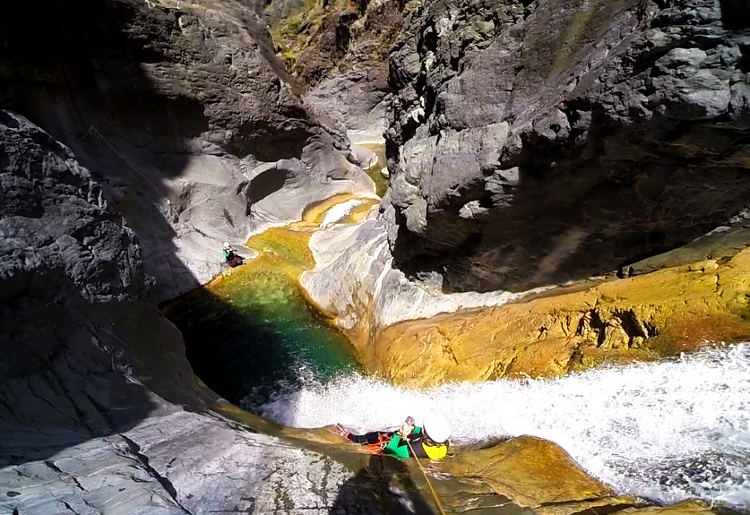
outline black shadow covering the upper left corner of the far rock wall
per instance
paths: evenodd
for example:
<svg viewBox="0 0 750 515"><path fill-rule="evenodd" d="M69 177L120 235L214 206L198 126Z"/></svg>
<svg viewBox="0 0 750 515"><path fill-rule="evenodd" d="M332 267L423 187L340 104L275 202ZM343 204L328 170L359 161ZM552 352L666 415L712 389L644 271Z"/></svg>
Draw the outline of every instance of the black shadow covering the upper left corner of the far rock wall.
<svg viewBox="0 0 750 515"><path fill-rule="evenodd" d="M14 4L0 21L0 102L70 146L142 243L194 288L198 281L168 258L176 235L162 199L164 180L179 176L190 159L185 139L206 130L208 120L197 100L159 91L143 66L166 59L174 22L145 4ZM151 256L144 261L149 266Z"/></svg>

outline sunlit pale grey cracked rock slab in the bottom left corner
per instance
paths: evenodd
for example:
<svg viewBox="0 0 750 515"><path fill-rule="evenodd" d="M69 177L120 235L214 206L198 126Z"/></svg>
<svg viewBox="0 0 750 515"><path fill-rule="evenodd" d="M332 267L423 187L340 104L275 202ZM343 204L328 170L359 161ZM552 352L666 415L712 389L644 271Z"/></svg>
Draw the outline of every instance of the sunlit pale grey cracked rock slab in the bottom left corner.
<svg viewBox="0 0 750 515"><path fill-rule="evenodd" d="M177 411L44 461L0 468L0 512L327 511L350 476L317 452L218 416Z"/></svg>

